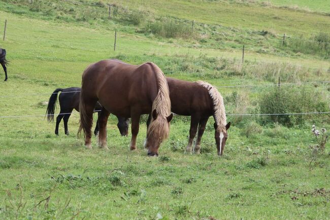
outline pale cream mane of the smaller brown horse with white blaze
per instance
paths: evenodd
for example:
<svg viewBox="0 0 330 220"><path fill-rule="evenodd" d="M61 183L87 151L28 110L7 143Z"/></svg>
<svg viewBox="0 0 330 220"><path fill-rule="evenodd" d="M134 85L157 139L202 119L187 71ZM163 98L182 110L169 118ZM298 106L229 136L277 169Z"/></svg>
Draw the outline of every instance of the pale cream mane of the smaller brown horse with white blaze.
<svg viewBox="0 0 330 220"><path fill-rule="evenodd" d="M209 91L210 97L212 98L214 118L217 123L217 131L226 132L226 113L224 109L223 98L220 95L219 91L211 84L203 81L197 81L197 84L206 88Z"/></svg>

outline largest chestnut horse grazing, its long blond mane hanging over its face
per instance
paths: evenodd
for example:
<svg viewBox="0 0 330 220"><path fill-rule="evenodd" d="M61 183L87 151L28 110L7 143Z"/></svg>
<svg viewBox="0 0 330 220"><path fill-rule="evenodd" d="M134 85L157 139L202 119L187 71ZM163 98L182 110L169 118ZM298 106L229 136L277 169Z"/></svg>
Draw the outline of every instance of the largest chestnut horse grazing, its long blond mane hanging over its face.
<svg viewBox="0 0 330 220"><path fill-rule="evenodd" d="M85 146L91 149L93 109L97 101L103 106L98 117L100 148L107 148L106 125L112 113L131 118L130 150L136 150L140 116L150 114L146 148L149 156L158 156L160 143L170 132L171 114L169 86L160 68L152 62L130 65L120 60L102 60L89 65L82 76L80 94L80 131Z"/></svg>

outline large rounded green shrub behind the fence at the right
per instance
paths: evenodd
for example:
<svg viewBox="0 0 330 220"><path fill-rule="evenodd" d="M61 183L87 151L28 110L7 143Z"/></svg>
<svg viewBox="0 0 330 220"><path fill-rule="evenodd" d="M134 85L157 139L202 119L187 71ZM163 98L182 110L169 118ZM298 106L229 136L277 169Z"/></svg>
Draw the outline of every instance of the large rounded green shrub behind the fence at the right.
<svg viewBox="0 0 330 220"><path fill-rule="evenodd" d="M325 95L324 95L325 96ZM261 93L259 100L261 114L327 112L329 105L320 92L308 88L271 88ZM285 126L299 125L308 115L263 116L263 123L278 122Z"/></svg>

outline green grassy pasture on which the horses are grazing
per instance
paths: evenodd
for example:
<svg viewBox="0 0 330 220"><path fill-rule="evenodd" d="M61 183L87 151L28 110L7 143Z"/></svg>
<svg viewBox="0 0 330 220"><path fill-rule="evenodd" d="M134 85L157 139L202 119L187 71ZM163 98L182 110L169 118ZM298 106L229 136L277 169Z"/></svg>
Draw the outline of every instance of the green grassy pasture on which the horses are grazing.
<svg viewBox="0 0 330 220"><path fill-rule="evenodd" d="M288 31L294 35L329 30L330 17L320 14L222 1L156 2L114 1L129 8L141 6L152 14L238 30L269 29L272 24L277 33ZM289 5L287 1L277 2ZM327 10L326 1L305 2L311 10ZM324 10L319 10L320 2L324 3ZM31 10L24 1L0 3L4 5L0 7L0 29L8 19L7 40L0 47L7 49L10 60L9 81L2 82L4 75L2 72L0 75L0 117L45 114L46 106L41 102L47 101L53 90L80 86L83 69L107 58L134 64L153 61L167 76L205 80L215 86L273 84L278 77L282 83L329 79L328 58L319 54L297 55L290 48L279 48L277 37L270 37L270 43L257 34L249 40L244 38L253 46L251 50L248 47L242 67L240 48L231 46L237 38L235 31L226 32L224 43L210 36L206 38L209 43L196 47L199 37L168 39L136 31L143 24L134 26L102 19L80 21L74 18L76 15L65 15L64 20L57 9L46 13L42 7L41 11ZM65 4L69 3L63 3L63 7L67 7ZM83 9L82 5L72 7L77 13ZM215 16L221 13L223 19ZM274 20L277 15L285 16L286 21ZM247 22L241 22L241 16ZM115 29L119 30L118 45L113 51ZM210 30L203 27L199 31ZM278 49L272 53L258 52L267 47ZM299 88L322 94L330 107L328 84ZM258 113L260 97L269 88L219 88L219 91L226 101L227 113L247 114ZM310 110L314 107L310 106ZM142 148L145 118L140 126L137 152L129 151L130 135L120 136L113 116L108 123L107 152L97 149L95 137L94 149L84 149L83 139L76 137L77 113L70 118L69 136L64 135L62 123L60 135L56 136L55 125L47 123L43 116L0 118L0 216L2 219L327 219L330 145L327 143L325 152L316 156L310 146L316 144L311 126L315 123L318 128L330 130L329 120L329 115L313 115L306 117L303 124L288 128L262 124L260 117L229 116L227 121L233 125L224 156L218 157L213 119L209 120L202 139L202 154L186 155L190 120L176 116L159 157L149 158Z"/></svg>

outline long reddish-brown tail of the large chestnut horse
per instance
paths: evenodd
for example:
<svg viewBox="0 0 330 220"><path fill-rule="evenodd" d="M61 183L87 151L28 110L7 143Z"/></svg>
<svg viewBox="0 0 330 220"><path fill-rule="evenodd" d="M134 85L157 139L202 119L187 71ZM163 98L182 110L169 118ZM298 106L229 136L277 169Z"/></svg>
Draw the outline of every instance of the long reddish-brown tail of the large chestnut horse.
<svg viewBox="0 0 330 220"><path fill-rule="evenodd" d="M87 72L89 66L87 66L87 68L84 70L81 81L80 102L79 102L80 126L78 129L78 137L81 135L81 132L83 132L85 136L87 129L90 129L88 122L91 119L88 117L86 113L86 103L84 99L84 80L83 80L84 75Z"/></svg>

